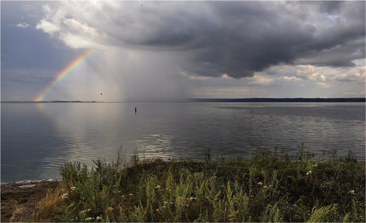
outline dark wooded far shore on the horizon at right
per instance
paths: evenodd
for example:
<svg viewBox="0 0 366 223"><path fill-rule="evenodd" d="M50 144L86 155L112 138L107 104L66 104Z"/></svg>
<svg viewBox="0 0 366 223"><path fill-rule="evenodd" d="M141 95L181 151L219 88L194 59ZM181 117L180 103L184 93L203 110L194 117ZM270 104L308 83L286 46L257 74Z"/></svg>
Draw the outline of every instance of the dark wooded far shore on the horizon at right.
<svg viewBox="0 0 366 223"><path fill-rule="evenodd" d="M273 99L273 98L252 98L252 99L190 99L191 102L366 102L364 97L352 97L352 98L285 98L285 99Z"/></svg>

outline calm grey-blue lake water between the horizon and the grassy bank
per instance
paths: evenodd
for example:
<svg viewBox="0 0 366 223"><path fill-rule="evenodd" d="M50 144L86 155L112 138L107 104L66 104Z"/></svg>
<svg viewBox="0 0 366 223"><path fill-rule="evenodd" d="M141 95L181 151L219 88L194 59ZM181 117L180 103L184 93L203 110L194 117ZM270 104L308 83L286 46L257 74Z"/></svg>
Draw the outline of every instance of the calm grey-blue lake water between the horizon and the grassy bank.
<svg viewBox="0 0 366 223"><path fill-rule="evenodd" d="M135 106L137 112L135 113ZM250 159L255 148L352 150L365 160L365 103L1 103L1 182L60 178L57 167L127 155Z"/></svg>

